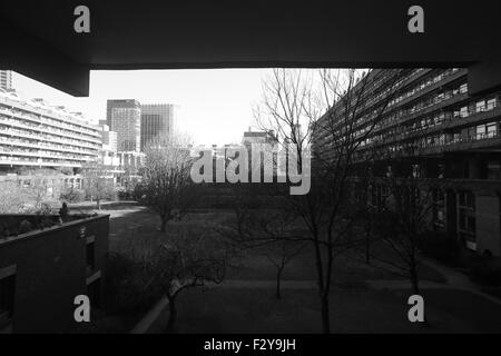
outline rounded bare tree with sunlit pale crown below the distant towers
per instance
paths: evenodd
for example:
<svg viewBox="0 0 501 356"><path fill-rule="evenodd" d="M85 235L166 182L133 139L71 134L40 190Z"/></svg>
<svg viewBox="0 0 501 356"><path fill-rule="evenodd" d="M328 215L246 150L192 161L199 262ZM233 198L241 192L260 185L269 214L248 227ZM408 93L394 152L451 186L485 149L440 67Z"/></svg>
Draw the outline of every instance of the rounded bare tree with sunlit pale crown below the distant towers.
<svg viewBox="0 0 501 356"><path fill-rule="evenodd" d="M180 218L197 198L197 187L189 176L193 158L187 139L181 137L154 139L145 154L136 196L159 215L160 231L165 231L167 222Z"/></svg>

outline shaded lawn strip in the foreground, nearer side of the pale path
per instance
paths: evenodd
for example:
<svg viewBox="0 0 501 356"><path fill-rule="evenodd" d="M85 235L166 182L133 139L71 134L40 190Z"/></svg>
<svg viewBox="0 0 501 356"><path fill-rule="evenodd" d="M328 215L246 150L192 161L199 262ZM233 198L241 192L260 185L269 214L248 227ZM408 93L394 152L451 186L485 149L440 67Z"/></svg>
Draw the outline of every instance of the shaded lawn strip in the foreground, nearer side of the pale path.
<svg viewBox="0 0 501 356"><path fill-rule="evenodd" d="M435 291L434 291L435 293ZM442 290L425 293L426 317L430 327L407 320L405 291L371 290L360 287L335 287L331 295L331 325L333 333L471 333L471 315L454 313L456 305L442 309ZM273 288L191 289L179 299L178 333L321 333L320 303L316 289L284 289L277 300ZM474 301L463 298L461 308ZM429 299L431 301L429 301ZM478 301L478 300L477 300ZM438 307L440 305L440 308ZM157 324L158 332L167 315ZM491 332L500 327L494 316L483 313Z"/></svg>

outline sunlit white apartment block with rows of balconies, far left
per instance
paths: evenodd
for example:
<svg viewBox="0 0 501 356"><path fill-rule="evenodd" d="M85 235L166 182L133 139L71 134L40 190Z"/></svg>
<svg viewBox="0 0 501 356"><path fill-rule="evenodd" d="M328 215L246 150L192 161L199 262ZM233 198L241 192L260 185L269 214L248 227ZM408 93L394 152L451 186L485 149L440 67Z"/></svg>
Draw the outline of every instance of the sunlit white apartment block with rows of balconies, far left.
<svg viewBox="0 0 501 356"><path fill-rule="evenodd" d="M80 112L0 89L0 170L80 168L101 149L99 129Z"/></svg>

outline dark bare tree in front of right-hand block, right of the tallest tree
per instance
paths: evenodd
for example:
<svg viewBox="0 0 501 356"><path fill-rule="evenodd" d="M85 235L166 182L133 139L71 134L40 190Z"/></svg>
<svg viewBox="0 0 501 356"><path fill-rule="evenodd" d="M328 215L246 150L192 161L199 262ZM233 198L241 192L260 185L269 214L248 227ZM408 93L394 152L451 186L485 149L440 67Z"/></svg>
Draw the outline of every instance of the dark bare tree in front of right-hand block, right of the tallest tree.
<svg viewBox="0 0 501 356"><path fill-rule="evenodd" d="M392 147L397 138L390 135L371 144L365 152L371 161L364 167L367 174L358 179L365 196L358 201L370 212L366 224L375 233L372 241L383 243L379 244L383 249L366 250L366 258L371 257L382 263L380 267L407 278L413 293L420 294L420 250L426 235L434 229L438 201L442 200L440 196L443 198L450 184L441 179L438 171L434 178L422 176L421 166L426 160L416 157L420 157L422 145L420 138L428 136L426 126L413 123L399 128L411 129L414 139L399 141L399 149ZM455 184L456 189L460 186Z"/></svg>

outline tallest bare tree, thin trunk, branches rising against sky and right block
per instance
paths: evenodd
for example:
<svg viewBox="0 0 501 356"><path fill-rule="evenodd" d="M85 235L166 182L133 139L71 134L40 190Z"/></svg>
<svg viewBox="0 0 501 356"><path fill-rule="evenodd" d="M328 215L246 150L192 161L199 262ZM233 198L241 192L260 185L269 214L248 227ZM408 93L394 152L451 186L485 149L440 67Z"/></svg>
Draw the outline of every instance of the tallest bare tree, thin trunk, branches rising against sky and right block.
<svg viewBox="0 0 501 356"><path fill-rule="evenodd" d="M391 72L383 88L389 93L370 108L369 75L325 69L317 71L315 80L311 71L275 69L254 110L258 127L273 129L282 140L296 145L298 167L315 144L310 194L291 196L287 201L310 233L303 239L312 244L315 254L324 333L331 330L333 261L356 243L350 237L362 214L348 199L357 150L386 111L401 76L401 70Z"/></svg>

